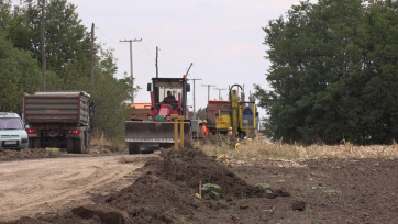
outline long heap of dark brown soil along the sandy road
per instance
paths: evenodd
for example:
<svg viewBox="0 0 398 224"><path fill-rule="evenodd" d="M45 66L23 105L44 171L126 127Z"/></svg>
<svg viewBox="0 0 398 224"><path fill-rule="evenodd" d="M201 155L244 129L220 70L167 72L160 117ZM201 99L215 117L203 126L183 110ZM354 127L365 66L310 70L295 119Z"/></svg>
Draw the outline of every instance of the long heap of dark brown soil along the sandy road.
<svg viewBox="0 0 398 224"><path fill-rule="evenodd" d="M197 148L163 150L140 171L141 177L130 187L108 195L92 195L93 205L11 223L256 223L264 220L253 212L264 212L253 204L275 198L289 200L284 190L266 193L247 184ZM200 181L219 186L220 198L203 190L202 198L197 197ZM248 200L252 203L246 203Z"/></svg>

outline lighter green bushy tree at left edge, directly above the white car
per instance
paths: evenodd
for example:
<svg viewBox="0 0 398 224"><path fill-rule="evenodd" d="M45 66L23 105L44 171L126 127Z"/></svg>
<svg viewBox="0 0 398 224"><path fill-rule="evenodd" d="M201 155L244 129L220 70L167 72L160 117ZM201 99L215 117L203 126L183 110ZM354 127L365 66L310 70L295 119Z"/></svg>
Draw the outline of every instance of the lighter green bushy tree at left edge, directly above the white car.
<svg viewBox="0 0 398 224"><path fill-rule="evenodd" d="M12 47L0 29L0 111L22 113L23 93L40 86L40 68L32 54Z"/></svg>

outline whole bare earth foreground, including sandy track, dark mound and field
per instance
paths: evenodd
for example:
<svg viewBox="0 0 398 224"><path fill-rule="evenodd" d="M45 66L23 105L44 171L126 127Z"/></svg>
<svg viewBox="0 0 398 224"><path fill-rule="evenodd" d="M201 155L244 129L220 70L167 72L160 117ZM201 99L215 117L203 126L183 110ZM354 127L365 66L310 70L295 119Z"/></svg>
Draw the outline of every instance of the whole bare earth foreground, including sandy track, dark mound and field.
<svg viewBox="0 0 398 224"><path fill-rule="evenodd" d="M198 148L136 157L0 163L0 197L8 201L0 201L0 223L398 223L398 160L257 160L225 167ZM92 164L84 166L86 160ZM204 190L198 198L200 181L219 186L220 198ZM63 184L48 190L48 182ZM270 192L257 183L268 183ZM24 201L25 194L37 198Z"/></svg>

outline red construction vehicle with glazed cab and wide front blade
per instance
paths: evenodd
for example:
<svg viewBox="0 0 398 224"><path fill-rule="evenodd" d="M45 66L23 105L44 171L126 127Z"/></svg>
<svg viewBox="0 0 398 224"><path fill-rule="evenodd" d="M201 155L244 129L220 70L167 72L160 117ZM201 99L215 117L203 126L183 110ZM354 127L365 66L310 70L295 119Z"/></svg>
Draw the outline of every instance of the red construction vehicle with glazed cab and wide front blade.
<svg viewBox="0 0 398 224"><path fill-rule="evenodd" d="M191 121L187 108L187 92L190 85L183 78L153 78L147 85L151 92L151 112L146 117L133 116L125 121L125 142L129 154L153 153L162 147L172 147L175 143L174 122L172 114L185 116L184 138L191 141ZM166 102L167 91L177 100ZM180 139L178 139L180 141Z"/></svg>

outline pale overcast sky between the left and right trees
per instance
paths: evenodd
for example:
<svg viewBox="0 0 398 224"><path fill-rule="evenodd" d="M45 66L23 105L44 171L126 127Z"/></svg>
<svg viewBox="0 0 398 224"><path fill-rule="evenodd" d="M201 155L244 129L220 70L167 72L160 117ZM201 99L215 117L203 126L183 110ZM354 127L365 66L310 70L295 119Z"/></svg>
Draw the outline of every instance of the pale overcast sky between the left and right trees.
<svg viewBox="0 0 398 224"><path fill-rule="evenodd" d="M204 108L219 89L244 85L246 96L253 85L269 89L265 74L265 33L269 20L285 15L299 0L68 0L88 31L96 25L97 41L112 48L118 59L118 78L130 76L130 44L133 42L133 76L139 91L135 102L150 102L146 83L156 76L156 46L159 77L181 77L192 63L189 79L196 81L196 110ZM194 90L194 82L191 90ZM192 92L192 91L191 91ZM221 90L228 99L228 90ZM188 103L194 105L192 93ZM190 109L191 110L191 109ZM265 115L259 110L261 116Z"/></svg>

